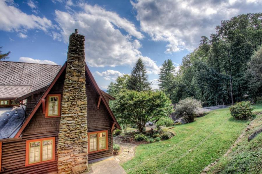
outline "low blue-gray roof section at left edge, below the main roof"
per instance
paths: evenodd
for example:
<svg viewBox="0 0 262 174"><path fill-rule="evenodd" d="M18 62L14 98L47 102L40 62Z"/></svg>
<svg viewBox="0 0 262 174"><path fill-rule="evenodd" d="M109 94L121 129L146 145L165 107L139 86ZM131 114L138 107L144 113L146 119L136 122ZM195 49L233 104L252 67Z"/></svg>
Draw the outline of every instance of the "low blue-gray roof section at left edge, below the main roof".
<svg viewBox="0 0 262 174"><path fill-rule="evenodd" d="M13 138L24 120L24 106L0 108L0 139ZM17 114L15 111L17 110ZM7 114L8 113L8 114Z"/></svg>

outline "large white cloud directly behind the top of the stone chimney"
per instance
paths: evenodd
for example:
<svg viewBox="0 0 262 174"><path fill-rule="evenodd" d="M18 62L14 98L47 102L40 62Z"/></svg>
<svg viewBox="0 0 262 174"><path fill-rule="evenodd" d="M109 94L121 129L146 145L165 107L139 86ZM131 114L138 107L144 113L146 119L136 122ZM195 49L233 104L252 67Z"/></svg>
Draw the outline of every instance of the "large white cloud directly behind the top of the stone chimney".
<svg viewBox="0 0 262 174"><path fill-rule="evenodd" d="M139 48L138 39L144 36L133 23L121 18L117 13L107 11L100 6L81 4L83 11L55 11L55 20L61 28L64 42L75 28L86 36L86 61L93 67L133 66L141 57L149 73L156 74L159 67L149 57L144 57ZM121 33L123 29L127 34ZM137 39L136 39L137 38Z"/></svg>

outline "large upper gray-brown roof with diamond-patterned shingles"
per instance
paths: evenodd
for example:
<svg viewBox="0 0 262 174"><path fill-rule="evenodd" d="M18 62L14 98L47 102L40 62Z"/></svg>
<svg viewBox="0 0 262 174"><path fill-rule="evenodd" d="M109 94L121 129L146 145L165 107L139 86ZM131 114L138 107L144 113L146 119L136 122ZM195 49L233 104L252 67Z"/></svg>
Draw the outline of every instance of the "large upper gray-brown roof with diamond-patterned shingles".
<svg viewBox="0 0 262 174"><path fill-rule="evenodd" d="M61 67L0 61L0 99L15 99L48 86Z"/></svg>

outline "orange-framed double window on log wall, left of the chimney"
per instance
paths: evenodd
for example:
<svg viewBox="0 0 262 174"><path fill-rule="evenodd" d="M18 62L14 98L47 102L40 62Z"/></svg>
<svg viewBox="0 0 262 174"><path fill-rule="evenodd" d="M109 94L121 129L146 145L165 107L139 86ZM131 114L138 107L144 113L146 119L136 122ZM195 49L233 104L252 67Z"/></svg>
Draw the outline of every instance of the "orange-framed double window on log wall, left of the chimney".
<svg viewBox="0 0 262 174"><path fill-rule="evenodd" d="M51 160L55 160L55 137L26 141L26 166Z"/></svg>

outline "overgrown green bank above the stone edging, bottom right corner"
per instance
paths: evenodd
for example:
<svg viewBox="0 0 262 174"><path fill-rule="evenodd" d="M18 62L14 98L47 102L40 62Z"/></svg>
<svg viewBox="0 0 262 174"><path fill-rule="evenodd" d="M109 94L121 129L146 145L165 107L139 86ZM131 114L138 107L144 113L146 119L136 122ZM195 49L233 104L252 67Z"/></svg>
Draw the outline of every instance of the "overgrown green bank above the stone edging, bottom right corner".
<svg viewBox="0 0 262 174"><path fill-rule="evenodd" d="M260 106L261 111L262 105ZM259 107L256 108L259 111ZM262 133L250 142L247 137L262 128L262 115L252 122L251 131L246 132L242 141L232 149L228 157L223 157L209 173L261 173L262 174Z"/></svg>

